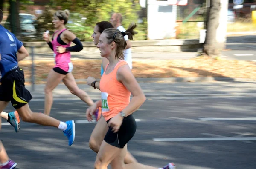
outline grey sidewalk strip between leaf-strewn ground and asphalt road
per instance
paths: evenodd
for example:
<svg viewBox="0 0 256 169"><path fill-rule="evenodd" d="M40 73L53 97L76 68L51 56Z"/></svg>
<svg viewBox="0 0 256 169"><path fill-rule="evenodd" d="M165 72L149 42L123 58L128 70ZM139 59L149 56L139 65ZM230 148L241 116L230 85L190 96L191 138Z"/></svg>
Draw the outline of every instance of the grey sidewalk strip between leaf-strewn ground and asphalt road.
<svg viewBox="0 0 256 169"><path fill-rule="evenodd" d="M206 97L206 96L256 96L256 85L253 82L178 82L178 83L139 83L147 98L154 97ZM26 86L33 97L44 97L44 84ZM79 84L80 89L86 91L93 99L100 99L100 91L87 84ZM64 84L60 84L53 91L54 98L77 98L70 94Z"/></svg>

